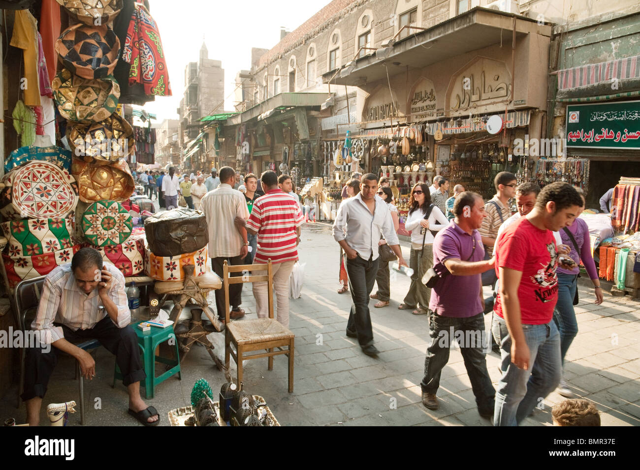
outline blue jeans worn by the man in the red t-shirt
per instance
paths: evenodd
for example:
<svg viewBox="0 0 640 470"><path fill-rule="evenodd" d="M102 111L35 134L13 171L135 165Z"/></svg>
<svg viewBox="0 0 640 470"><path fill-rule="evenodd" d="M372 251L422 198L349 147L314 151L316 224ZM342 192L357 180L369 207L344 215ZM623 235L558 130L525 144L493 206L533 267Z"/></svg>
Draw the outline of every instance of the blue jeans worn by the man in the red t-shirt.
<svg viewBox="0 0 640 470"><path fill-rule="evenodd" d="M500 345L502 377L495 394L494 426L517 426L534 407L554 391L562 376L560 334L551 321L541 325L522 325L531 353L529 370L511 363L511 336L503 318L493 315L492 333Z"/></svg>

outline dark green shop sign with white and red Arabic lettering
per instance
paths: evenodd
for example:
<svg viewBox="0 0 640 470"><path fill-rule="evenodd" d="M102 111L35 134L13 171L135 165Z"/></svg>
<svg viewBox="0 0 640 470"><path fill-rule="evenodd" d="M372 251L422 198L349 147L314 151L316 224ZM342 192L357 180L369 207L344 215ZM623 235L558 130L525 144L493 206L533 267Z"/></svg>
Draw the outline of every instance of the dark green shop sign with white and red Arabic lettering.
<svg viewBox="0 0 640 470"><path fill-rule="evenodd" d="M566 146L640 149L640 101L567 106Z"/></svg>

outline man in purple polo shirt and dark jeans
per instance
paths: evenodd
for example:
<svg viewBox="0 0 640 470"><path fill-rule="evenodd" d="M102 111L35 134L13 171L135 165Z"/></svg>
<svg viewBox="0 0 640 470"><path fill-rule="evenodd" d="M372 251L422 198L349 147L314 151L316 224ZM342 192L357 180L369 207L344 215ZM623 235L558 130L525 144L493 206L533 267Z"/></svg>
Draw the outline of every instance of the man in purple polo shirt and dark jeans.
<svg viewBox="0 0 640 470"><path fill-rule="evenodd" d="M475 192L461 192L452 212L455 218L433 240L434 269L445 275L434 286L429 300L431 343L420 382L422 404L438 409L436 392L440 387L440 374L449 361L452 341L458 341L478 411L480 416L489 419L495 407L495 389L486 370L483 351L487 334L481 274L493 269L493 263L483 259L484 247L477 230L486 216L483 198Z"/></svg>

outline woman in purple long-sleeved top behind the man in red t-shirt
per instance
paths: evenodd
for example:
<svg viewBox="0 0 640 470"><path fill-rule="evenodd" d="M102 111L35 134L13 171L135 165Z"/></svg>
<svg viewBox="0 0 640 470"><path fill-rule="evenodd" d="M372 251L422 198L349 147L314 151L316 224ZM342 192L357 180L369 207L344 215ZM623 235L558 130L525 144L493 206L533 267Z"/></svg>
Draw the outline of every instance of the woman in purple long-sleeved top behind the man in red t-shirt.
<svg viewBox="0 0 640 470"><path fill-rule="evenodd" d="M602 287L600 287L600 279L598 271L593 262L591 255L591 240L589 239L589 227L584 219L580 219L579 215L584 210L584 194L582 195L582 208L569 227L560 230L560 238L564 245L570 249L569 263L564 262L561 257L557 267L558 277L558 299L556 309L554 311L554 322L560 331L560 357L564 364L564 356L569 349L573 338L578 333L578 322L575 319L574 305L578 304L578 276L580 269L578 265L580 260L589 274L589 278L593 283L596 295L596 305L602 304ZM566 255L564 255L566 256ZM573 392L566 386L564 378L560 381L557 392L565 397L572 397Z"/></svg>

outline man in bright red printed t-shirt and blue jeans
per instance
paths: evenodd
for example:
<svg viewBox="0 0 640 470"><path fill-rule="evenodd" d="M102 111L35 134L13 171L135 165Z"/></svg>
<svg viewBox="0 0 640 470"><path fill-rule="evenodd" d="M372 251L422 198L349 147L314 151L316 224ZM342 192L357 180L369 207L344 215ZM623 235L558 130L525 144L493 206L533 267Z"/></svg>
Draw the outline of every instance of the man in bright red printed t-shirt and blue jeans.
<svg viewBox="0 0 640 470"><path fill-rule="evenodd" d="M560 382L560 335L553 322L558 255L551 231L570 226L580 207L582 198L572 185L549 184L533 210L497 241L500 289L492 333L500 345L502 378L495 426L518 425Z"/></svg>

